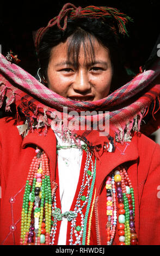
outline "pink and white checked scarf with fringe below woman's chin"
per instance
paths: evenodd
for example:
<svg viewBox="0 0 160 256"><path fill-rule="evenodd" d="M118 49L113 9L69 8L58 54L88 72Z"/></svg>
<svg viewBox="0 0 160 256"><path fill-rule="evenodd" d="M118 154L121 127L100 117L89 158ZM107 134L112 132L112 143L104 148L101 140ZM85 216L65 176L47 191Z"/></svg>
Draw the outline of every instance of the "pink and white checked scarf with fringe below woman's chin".
<svg viewBox="0 0 160 256"><path fill-rule="evenodd" d="M141 127L144 131L149 128L147 125L140 125L142 124L141 120L149 111L151 103L153 109L152 120L149 120L150 127L154 130L158 128L159 120L156 119L156 115L159 114L160 104L158 103L157 108L156 102L159 102L160 95L159 74L160 60L158 59L152 69L137 75L104 99L95 102L77 102L54 93L28 72L11 64L0 54L0 107L5 100L5 111L9 111L10 105L15 103L16 109L20 109L26 116L28 130L39 129L43 126L45 133L48 126L52 127L55 114L56 116L58 113L64 114L64 108L67 108L67 113L96 111L99 120L109 119L109 136L114 137L118 142L130 141L132 132L140 131ZM103 113L99 113L99 111ZM71 119L68 114L65 115L65 118ZM87 119L88 117L84 114L84 116L81 115L81 118ZM91 121L93 119L94 116L91 117ZM36 125L33 126L35 120ZM152 125L152 123L154 124ZM147 133L153 132L152 128ZM63 124L63 132L67 129L68 127ZM87 125L83 127L83 130L72 130L72 134L85 137L92 141L91 143L99 141L97 132L99 130L88 130Z"/></svg>

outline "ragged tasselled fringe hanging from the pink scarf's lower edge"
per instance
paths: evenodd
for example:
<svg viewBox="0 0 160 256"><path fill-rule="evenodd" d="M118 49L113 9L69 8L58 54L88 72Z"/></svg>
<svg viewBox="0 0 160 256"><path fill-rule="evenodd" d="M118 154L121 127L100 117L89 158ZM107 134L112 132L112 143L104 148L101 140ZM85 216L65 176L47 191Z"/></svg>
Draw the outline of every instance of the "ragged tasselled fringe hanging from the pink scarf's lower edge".
<svg viewBox="0 0 160 256"><path fill-rule="evenodd" d="M21 104L21 99L19 95L16 95L11 88L5 86L5 84L0 84L2 88L0 93L0 108L3 104L5 104L5 111L11 112L11 105L16 103L16 100L19 104L16 105L16 119L20 121L20 113L23 113L26 117L26 121L23 125L17 125L17 129L22 137L27 136L28 132L38 130L39 133L43 133L45 136L47 134L48 127L51 126L51 129L55 132L60 132L62 138L64 137L67 139L68 142L73 139L73 141L81 147L81 143L79 139L77 139L76 131L69 130L68 127L65 127L63 123L61 123L61 130L58 129L58 126L53 125L55 119L55 112L48 112L47 109L42 108L41 106L36 106L36 109L32 109L32 114L28 112L28 107L24 107ZM19 99L18 99L19 98ZM152 109L150 109L152 107ZM140 131L140 125L144 117L146 117L149 112L152 114L152 118L155 119L155 114L160 109L160 100L159 96L156 96L156 99L152 100L152 102L144 108L139 113L136 113L134 117L132 117L127 123L124 125L117 125L114 124L112 129L114 131L114 139L116 142L124 143L124 142L131 142L132 133L137 133ZM62 120L59 120L62 122ZM45 128L45 130L44 130Z"/></svg>

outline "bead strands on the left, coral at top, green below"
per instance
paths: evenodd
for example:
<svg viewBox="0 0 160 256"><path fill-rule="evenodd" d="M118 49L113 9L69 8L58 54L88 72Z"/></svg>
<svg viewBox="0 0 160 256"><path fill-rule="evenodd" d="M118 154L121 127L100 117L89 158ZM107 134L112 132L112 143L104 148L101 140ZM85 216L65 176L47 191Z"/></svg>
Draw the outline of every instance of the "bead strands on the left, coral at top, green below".
<svg viewBox="0 0 160 256"><path fill-rule="evenodd" d="M40 149L36 149L35 152L36 156L30 164L23 196L20 245L50 244L52 213L50 169L46 154Z"/></svg>

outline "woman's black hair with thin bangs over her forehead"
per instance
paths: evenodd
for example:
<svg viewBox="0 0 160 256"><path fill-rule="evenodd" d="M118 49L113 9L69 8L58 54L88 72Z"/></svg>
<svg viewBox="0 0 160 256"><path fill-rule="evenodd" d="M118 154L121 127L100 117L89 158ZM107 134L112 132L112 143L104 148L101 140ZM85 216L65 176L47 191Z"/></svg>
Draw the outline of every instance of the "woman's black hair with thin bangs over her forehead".
<svg viewBox="0 0 160 256"><path fill-rule="evenodd" d="M126 83L126 74L122 64L118 35L114 33L108 23L100 19L91 19L89 17L68 19L65 31L61 31L57 25L48 28L39 44L38 59L41 68L41 76L47 79L47 68L52 48L60 44L60 42L65 42L68 38L70 39L67 48L68 60L72 59L72 62L78 65L78 56L82 44L84 52L90 51L89 53L93 60L93 40L96 39L109 50L113 67L111 91L113 92ZM86 46L86 41L89 41L89 48Z"/></svg>

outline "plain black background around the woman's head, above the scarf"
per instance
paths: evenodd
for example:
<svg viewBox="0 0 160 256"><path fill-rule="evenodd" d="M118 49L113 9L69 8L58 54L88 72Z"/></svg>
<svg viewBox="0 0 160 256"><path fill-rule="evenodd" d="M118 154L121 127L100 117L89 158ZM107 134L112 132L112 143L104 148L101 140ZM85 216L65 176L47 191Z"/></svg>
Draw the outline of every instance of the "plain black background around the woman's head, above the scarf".
<svg viewBox="0 0 160 256"><path fill-rule="evenodd" d="M69 1L76 7L87 5L107 5L132 17L128 24L130 37L121 40L124 52L124 65L131 78L138 74L149 58L160 32L159 0L106 0L106 1ZM59 13L67 1L1 1L0 3L0 52L4 56L12 50L21 60L19 65L31 75L36 76L38 62L34 49L33 34ZM3 112L0 112L0 118ZM160 144L159 130L151 136Z"/></svg>

